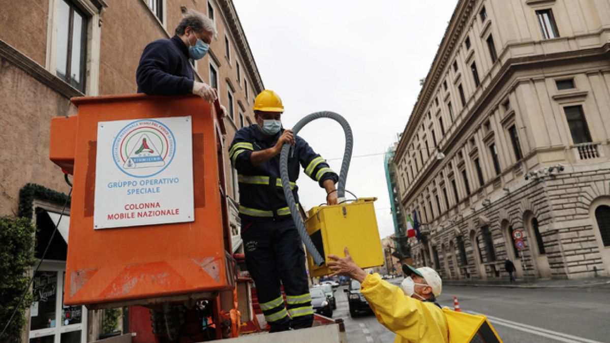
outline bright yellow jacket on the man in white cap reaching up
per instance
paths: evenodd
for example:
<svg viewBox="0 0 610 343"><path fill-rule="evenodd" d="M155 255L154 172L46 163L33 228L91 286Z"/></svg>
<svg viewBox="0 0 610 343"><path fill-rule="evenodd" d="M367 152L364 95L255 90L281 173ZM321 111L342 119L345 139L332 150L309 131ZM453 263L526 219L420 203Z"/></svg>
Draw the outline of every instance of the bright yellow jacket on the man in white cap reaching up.
<svg viewBox="0 0 610 343"><path fill-rule="evenodd" d="M394 343L448 343L449 329L442 309L407 297L400 287L367 275L360 289L379 323L396 333Z"/></svg>

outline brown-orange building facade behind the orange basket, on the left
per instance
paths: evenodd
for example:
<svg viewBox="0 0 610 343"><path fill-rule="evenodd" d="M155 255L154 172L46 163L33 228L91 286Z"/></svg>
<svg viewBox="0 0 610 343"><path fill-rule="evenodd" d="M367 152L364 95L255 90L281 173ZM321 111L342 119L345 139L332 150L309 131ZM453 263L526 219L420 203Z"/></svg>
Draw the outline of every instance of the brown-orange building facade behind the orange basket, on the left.
<svg viewBox="0 0 610 343"><path fill-rule="evenodd" d="M228 145L238 129L254 122L254 98L264 89L231 0L0 0L0 215L32 217L39 229L38 247L48 242L53 215L62 211L60 200L70 190L60 168L49 161L51 118L76 114L73 96L136 93L140 54L152 40L174 35L182 5L215 21L218 33L209 54L193 63L195 78L217 88L228 109ZM235 250L240 245L239 199L226 155ZM62 289L66 241L59 235L52 241L38 286L44 281ZM56 292L54 305L43 309L40 301L27 313L23 341L99 338L102 311L84 310L80 320L64 325L61 297Z"/></svg>

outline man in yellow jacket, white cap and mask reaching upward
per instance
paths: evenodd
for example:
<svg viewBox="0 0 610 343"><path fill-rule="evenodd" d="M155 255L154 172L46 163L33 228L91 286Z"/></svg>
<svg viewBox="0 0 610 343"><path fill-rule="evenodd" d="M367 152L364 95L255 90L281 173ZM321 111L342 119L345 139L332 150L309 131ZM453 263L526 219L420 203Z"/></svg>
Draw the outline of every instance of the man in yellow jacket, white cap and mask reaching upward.
<svg viewBox="0 0 610 343"><path fill-rule="evenodd" d="M396 333L395 343L447 343L447 318L436 303L442 291L439 274L429 267L415 269L404 264L408 275L401 287L381 280L379 274L368 274L353 261L345 248L345 258L329 255L331 276L345 275L361 283L361 293L367 299L379 323Z"/></svg>

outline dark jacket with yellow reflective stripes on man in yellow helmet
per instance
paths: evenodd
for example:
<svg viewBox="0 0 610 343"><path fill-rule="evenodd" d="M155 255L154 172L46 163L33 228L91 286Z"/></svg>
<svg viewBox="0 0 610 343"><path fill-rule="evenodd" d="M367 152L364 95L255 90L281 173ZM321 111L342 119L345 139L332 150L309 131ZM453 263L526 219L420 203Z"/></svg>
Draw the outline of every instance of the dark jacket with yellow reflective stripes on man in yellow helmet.
<svg viewBox="0 0 610 343"><path fill-rule="evenodd" d="M240 217L242 218L273 218L290 215L279 177L279 154L259 166L254 166L251 162L252 153L273 147L282 132L284 132L283 129L273 139L265 140L255 124L246 126L235 133L233 142L229 146L229 159L238 174ZM288 157L288 174L292 194L298 202L296 179L299 177L300 168L303 168L307 176L317 181L320 187L323 187L323 182L327 179L336 183L339 181L339 176L304 139L296 135L295 141Z"/></svg>

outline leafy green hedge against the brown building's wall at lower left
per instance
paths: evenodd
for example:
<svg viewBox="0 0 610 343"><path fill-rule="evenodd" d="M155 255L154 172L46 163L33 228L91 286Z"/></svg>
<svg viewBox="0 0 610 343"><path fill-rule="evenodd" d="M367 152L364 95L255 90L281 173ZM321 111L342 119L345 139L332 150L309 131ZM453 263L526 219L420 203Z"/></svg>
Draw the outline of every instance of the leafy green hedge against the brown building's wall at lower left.
<svg viewBox="0 0 610 343"><path fill-rule="evenodd" d="M9 321L29 282L30 267L35 262L35 231L29 218L0 217L0 330ZM27 292L0 342L21 341L21 330L26 325L24 312L31 302L32 294Z"/></svg>

